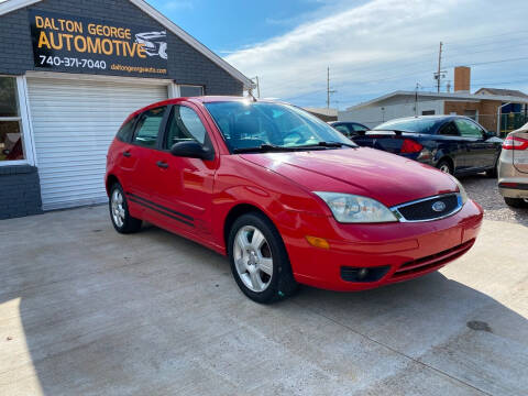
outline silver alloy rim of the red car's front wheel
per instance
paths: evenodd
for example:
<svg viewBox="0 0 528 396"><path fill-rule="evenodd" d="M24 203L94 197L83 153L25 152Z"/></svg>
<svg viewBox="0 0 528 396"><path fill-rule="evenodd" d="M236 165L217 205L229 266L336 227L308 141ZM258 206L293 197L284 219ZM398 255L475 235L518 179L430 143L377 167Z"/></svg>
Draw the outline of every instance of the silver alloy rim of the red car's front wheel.
<svg viewBox="0 0 528 396"><path fill-rule="evenodd" d="M252 292L264 292L272 282L273 257L266 238L256 227L242 227L233 243L234 265L243 284Z"/></svg>

